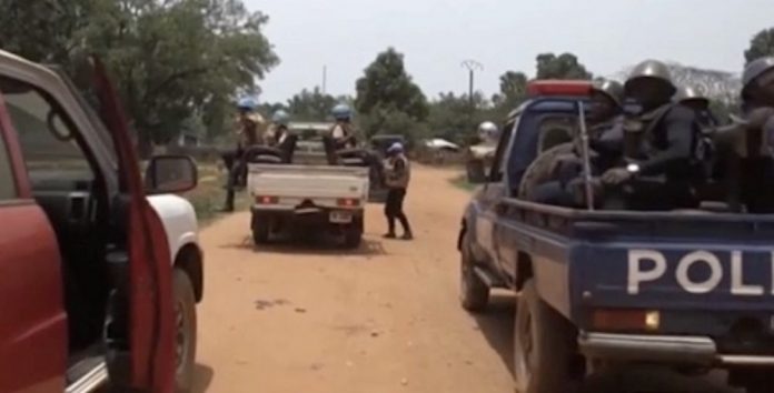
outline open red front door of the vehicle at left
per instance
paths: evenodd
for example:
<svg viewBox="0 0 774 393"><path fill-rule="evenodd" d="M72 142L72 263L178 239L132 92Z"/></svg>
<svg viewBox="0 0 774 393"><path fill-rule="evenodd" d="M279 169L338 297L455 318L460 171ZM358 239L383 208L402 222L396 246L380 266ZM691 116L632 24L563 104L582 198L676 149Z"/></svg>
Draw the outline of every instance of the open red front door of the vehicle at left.
<svg viewBox="0 0 774 393"><path fill-rule="evenodd" d="M100 114L116 147L128 256L128 350L131 389L149 393L175 391L175 323L172 268L167 236L146 199L139 160L129 138L127 118L99 59L93 59Z"/></svg>

